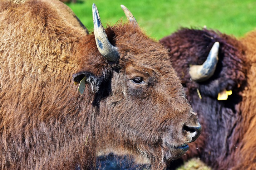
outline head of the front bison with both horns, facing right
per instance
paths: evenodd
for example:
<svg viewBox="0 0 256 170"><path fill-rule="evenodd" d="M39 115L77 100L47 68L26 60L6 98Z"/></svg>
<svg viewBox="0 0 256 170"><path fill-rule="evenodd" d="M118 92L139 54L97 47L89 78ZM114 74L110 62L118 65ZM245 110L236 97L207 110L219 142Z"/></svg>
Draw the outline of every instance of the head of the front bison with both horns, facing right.
<svg viewBox="0 0 256 170"><path fill-rule="evenodd" d="M137 162L163 168L165 160L188 150L201 126L167 50L122 8L130 22L104 29L93 4L94 34L81 41L73 80L86 79L83 96L93 117L88 121L96 152L128 153Z"/></svg>

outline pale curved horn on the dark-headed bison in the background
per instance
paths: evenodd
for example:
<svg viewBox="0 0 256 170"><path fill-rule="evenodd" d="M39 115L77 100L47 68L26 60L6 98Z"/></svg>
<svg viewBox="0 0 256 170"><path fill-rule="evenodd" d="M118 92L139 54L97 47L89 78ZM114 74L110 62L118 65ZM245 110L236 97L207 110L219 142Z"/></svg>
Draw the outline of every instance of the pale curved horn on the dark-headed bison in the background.
<svg viewBox="0 0 256 170"><path fill-rule="evenodd" d="M190 67L189 73L191 79L197 82L202 82L209 79L215 72L219 52L219 42L215 42L210 50L207 59L202 65L193 65Z"/></svg>

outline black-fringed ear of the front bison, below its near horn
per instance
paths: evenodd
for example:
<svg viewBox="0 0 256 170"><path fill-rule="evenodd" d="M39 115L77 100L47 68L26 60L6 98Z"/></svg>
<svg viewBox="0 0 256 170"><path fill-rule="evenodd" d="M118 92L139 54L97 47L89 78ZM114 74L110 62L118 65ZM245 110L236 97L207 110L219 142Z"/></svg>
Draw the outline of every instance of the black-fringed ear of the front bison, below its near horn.
<svg viewBox="0 0 256 170"><path fill-rule="evenodd" d="M83 78L85 78L85 84L88 83L89 86L91 87L91 90L93 93L96 93L99 90L99 87L101 83L107 79L107 76L109 74L104 73L101 76L96 76L91 72L88 71L80 71L78 73L75 73L72 75L73 81L75 84L78 84L81 82ZM82 82L81 82L82 83ZM80 91L80 90L79 90ZM81 92L81 91L80 91ZM82 90L83 92L83 90ZM82 93L81 92L81 93Z"/></svg>

